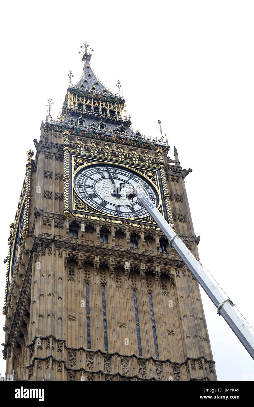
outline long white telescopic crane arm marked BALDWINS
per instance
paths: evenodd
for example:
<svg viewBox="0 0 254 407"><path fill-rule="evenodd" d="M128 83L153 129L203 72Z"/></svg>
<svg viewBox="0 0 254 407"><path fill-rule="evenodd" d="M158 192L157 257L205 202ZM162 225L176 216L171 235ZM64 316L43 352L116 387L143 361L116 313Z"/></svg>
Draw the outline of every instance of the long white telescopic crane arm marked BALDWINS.
<svg viewBox="0 0 254 407"><path fill-rule="evenodd" d="M225 293L218 287L218 283L210 276L207 269L195 259L179 237L179 234L176 234L166 219L163 218L144 192L142 184L138 184L130 191L128 198L130 199L133 196L138 197L141 204L146 208L152 219L154 219L155 223L157 223L168 239L169 244L174 248L177 254L179 254L193 276L212 300L216 306L217 313L223 316L247 352L249 352L252 359L254 359L254 332L236 307L234 307L233 302L226 297Z"/></svg>

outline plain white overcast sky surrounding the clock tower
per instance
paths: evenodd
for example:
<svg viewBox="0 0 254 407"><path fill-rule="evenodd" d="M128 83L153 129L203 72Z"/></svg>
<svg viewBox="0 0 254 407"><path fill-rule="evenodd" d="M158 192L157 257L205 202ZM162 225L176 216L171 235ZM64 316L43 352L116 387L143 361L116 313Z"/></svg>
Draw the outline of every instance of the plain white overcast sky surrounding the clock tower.
<svg viewBox="0 0 254 407"><path fill-rule="evenodd" d="M1 9L0 258L47 100L56 117L68 71L73 83L82 74L78 51L87 41L98 79L114 92L120 80L134 129L160 136L161 119L169 156L175 145L183 168L192 168L186 189L200 258L253 326L254 3L44 0ZM254 380L253 360L205 293L202 300L218 379ZM0 336L2 343L2 329Z"/></svg>

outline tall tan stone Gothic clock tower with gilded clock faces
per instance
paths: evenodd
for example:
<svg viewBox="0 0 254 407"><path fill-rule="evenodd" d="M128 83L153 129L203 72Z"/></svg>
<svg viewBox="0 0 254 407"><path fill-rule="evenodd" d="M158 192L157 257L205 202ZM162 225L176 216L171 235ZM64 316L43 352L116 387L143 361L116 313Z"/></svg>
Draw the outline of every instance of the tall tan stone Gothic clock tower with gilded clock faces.
<svg viewBox="0 0 254 407"><path fill-rule="evenodd" d="M139 200L142 182L198 256L183 169L131 129L85 43L62 112L41 123L11 223L6 373L37 381L216 380L199 285ZM33 158L34 157L34 158Z"/></svg>

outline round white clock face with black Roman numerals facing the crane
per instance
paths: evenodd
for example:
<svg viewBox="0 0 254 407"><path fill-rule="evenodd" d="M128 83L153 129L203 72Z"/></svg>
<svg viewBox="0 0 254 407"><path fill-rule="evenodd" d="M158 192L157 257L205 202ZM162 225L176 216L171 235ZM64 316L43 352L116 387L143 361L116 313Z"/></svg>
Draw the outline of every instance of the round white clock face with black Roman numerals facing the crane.
<svg viewBox="0 0 254 407"><path fill-rule="evenodd" d="M124 188L136 186L139 182L143 183L144 191L153 204L158 206L159 199L154 186L124 167L99 164L84 168L75 177L74 184L80 197L93 208L111 216L141 218L149 214L139 199L134 197L132 202L122 192Z"/></svg>

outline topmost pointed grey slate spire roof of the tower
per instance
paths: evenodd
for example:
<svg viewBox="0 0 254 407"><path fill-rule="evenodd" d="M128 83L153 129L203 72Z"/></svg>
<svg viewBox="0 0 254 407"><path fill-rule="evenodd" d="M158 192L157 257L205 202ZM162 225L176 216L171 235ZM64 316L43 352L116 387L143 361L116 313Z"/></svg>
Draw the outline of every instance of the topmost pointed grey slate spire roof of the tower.
<svg viewBox="0 0 254 407"><path fill-rule="evenodd" d="M83 75L80 80L75 84L76 88L86 90L94 90L94 92L104 93L105 95L114 95L110 92L104 85L96 78L91 66L90 66L91 55L84 53L82 60L84 61Z"/></svg>

